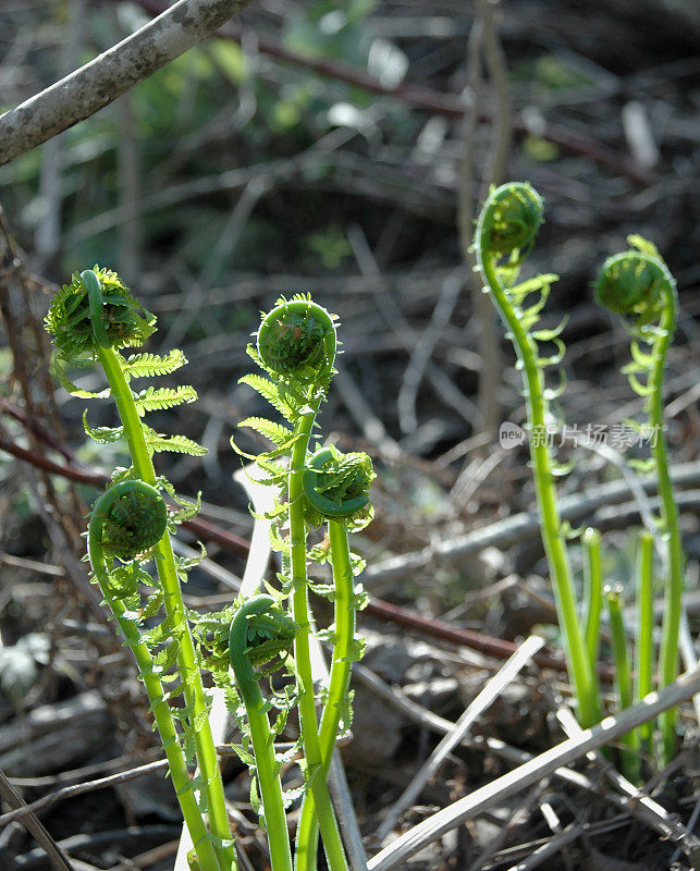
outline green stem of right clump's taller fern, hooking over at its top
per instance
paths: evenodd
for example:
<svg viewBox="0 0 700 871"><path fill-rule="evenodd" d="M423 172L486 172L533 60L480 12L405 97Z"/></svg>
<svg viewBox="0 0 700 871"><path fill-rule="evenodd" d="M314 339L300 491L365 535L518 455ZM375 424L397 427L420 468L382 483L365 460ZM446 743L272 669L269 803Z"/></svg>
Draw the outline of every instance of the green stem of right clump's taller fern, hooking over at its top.
<svg viewBox="0 0 700 871"><path fill-rule="evenodd" d="M503 245L500 244L499 247L493 250L489 247L490 240L506 235L507 212L503 214L499 223L494 222L494 216L499 217L499 199L503 199L504 194L509 193L511 189L521 194L525 200L531 200L535 194L529 185L503 185L492 192L483 205L477 223L475 235L477 265L491 293L491 298L495 304L496 310L509 332L523 371L528 422L530 426L530 456L532 459L535 488L540 514L540 527L552 574L560 626L564 635L568 673L578 703L579 720L581 725L587 728L600 720L595 679L578 622L576 597L568 564L566 543L562 531L549 447L545 439L535 438L535 433L537 432L547 432L544 377L538 364L537 343L532 335L520 323L518 310L511 304L505 287L496 273L496 261L499 257L505 253L511 254L513 250L515 250L517 255L518 249L517 247L514 249L512 246L506 248L505 243L503 243ZM535 194L535 196L537 195ZM527 213L524 216L525 219L528 217ZM531 244L535 232L537 232L537 226L541 221L541 217L533 216L533 218L535 226L532 232L519 233L521 237L519 244L521 244L523 247L527 247ZM521 219L518 219L518 231L523 230L520 223ZM501 224L503 224L503 228L501 228Z"/></svg>

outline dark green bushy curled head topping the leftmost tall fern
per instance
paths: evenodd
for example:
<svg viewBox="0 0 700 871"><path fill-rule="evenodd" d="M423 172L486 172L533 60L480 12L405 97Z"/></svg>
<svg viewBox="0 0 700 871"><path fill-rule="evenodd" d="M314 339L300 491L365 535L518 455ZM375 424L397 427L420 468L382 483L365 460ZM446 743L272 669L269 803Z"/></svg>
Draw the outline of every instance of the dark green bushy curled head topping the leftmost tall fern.
<svg viewBox="0 0 700 871"><path fill-rule="evenodd" d="M46 317L47 330L67 359L100 347L142 345L156 318L132 296L115 272L95 266L74 272L56 294Z"/></svg>

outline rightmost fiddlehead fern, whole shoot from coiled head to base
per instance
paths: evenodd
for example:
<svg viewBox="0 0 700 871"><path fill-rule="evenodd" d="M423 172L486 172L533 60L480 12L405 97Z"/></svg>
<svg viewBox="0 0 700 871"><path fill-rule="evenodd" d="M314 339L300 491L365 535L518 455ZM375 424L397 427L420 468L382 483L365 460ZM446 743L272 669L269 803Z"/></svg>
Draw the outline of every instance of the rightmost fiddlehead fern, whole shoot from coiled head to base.
<svg viewBox="0 0 700 871"><path fill-rule="evenodd" d="M629 250L610 257L595 282L601 305L624 318L631 333L631 363L623 368L633 390L644 398L646 434L650 439L652 465L656 473L661 501L659 531L666 544L666 603L659 651L660 686L678 674L678 633L684 588L684 553L678 527L678 508L668 474L664 433L663 377L666 353L676 327L677 295L675 281L656 248L641 236L629 236ZM642 351L640 343L648 347ZM627 421L633 426L634 421ZM640 428L644 434L644 428ZM639 464L638 464L639 465ZM646 464L641 464L646 468ZM661 717L663 759L668 761L676 746L676 711Z"/></svg>

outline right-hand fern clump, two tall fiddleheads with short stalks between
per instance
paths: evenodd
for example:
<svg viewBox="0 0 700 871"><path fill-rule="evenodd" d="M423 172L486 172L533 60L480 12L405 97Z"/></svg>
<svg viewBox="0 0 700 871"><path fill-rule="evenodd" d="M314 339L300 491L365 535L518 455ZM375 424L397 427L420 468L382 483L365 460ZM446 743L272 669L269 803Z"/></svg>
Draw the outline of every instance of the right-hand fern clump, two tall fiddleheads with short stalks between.
<svg viewBox="0 0 700 871"><path fill-rule="evenodd" d="M542 540L549 561L552 586L563 635L568 672L578 706L581 725L591 726L601 719L597 679L600 625L603 603L607 605L612 652L621 708L640 701L654 688L656 672L653 640L654 580L663 581L665 608L658 657L658 686L671 684L678 674L678 636L681 618L684 555L678 527L678 511L668 474L663 420L663 376L666 352L676 324L675 282L656 248L641 236L629 236L629 249L610 257L601 267L595 296L622 321L630 335L630 363L627 373L634 392L643 397L646 419L625 420L647 441L651 456L647 461L624 458L628 474L655 474L659 514L646 512L646 529L639 539L637 581L637 626L635 631L634 679L629 634L621 605L621 591L604 585L602 577L601 533L591 527L572 529L562 523L555 479L566 475L572 464L558 463L552 454L548 433L561 433L564 418L553 405L565 390L561 372L556 387L549 387L547 370L558 367L565 345L562 321L554 329L541 329L538 321L556 275L542 274L518 281L520 268L542 223L543 205L528 184L509 183L491 192L481 210L474 248L477 268L488 293L513 342L517 366L523 375L529 449L537 494ZM543 353L542 346L554 347ZM577 597L569 565L569 545L580 539L585 568L585 589ZM659 559L654 561L654 552ZM660 716L659 732L651 723L624 737L622 765L633 781L638 781L642 763L656 759L665 764L676 744L676 711ZM658 740L656 740L658 739Z"/></svg>

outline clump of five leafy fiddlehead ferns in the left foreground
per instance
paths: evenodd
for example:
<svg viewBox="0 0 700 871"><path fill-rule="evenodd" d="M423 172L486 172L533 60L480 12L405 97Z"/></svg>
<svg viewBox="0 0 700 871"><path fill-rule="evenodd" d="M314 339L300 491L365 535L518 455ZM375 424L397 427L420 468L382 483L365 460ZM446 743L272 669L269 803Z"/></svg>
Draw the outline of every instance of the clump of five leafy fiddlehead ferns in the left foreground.
<svg viewBox="0 0 700 871"><path fill-rule="evenodd" d="M114 471L93 507L87 559L146 688L194 845L192 868L237 868L208 720L210 698L201 679L206 670L223 689L238 725L242 741L235 749L250 768L251 805L268 832L273 871L292 871L285 811L302 795L294 867L317 868L320 835L331 871L346 871L327 778L337 736L349 728L351 666L363 651L355 612L365 599L355 577L364 563L351 553L348 532L371 519L374 475L366 454L343 454L317 443L316 415L335 371L335 317L307 296L281 298L263 318L257 344L248 348L266 375L243 380L286 421L248 418L241 424L273 445L248 458L262 473L257 479L275 492L270 518L280 571L267 592L204 615L186 609L181 591L199 560L176 556L170 539L197 512L198 501L179 498L156 475L152 459L161 451L201 455L205 449L183 436L159 433L144 420L148 412L194 402L196 392L189 385L134 389L135 382L179 369L186 363L184 355L122 354L144 344L156 319L115 273L98 267L73 275L56 295L46 322L58 348L56 370L63 387L82 398L113 398L121 418L118 427L91 427L84 415L91 439L101 444L125 441L131 456L131 465ZM70 380L71 370L96 365L107 378L105 390L91 393ZM320 527L323 532L314 532ZM314 540L307 542L309 535ZM332 582L311 580L309 563L329 563ZM315 629L309 593L333 601L334 623L322 633ZM332 650L327 682L311 671L311 646L321 640ZM260 682L273 674L263 695ZM299 739L278 752L275 738L294 709ZM293 761L300 765L304 783L285 790L282 766Z"/></svg>

